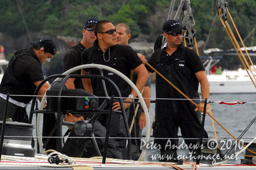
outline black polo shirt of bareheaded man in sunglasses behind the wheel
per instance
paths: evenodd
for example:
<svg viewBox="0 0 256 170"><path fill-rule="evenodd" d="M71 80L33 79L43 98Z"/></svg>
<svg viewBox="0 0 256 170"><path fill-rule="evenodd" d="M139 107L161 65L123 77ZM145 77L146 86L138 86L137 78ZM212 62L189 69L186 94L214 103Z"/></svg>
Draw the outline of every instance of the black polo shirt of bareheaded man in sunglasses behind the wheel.
<svg viewBox="0 0 256 170"><path fill-rule="evenodd" d="M110 54L110 55L109 55ZM112 67L124 74L126 77L131 77L131 70L142 64L141 60L134 50L126 45L111 46L104 53L98 46L98 40L94 41L94 45L82 52L82 64L102 64ZM100 75L99 69L86 69L92 75ZM131 93L131 87L122 78L115 75L113 72L103 70L103 76L111 79L119 88L122 97L126 98ZM99 79L91 79L93 93L97 96L105 96L102 81ZM109 96L117 96L113 86L109 82L105 82Z"/></svg>

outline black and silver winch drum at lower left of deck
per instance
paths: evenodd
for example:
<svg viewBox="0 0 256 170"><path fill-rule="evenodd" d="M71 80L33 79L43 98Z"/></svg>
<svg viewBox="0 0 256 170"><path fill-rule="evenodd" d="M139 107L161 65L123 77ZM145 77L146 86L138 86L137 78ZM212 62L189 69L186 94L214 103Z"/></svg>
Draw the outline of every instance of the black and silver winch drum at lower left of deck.
<svg viewBox="0 0 256 170"><path fill-rule="evenodd" d="M0 121L2 129L3 121ZM6 122L2 155L34 157L34 125Z"/></svg>

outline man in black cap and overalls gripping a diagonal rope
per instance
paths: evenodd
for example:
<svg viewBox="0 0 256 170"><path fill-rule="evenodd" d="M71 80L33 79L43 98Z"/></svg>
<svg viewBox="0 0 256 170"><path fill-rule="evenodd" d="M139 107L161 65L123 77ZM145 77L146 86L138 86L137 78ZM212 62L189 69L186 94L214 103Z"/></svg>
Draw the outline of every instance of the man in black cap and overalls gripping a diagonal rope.
<svg viewBox="0 0 256 170"><path fill-rule="evenodd" d="M167 46L153 53L148 63L190 99L199 99L198 86L200 83L202 99L208 99L209 83L204 66L193 50L183 46L182 30L184 29L179 21L167 20L163 25L163 36L167 41ZM154 72L147 65L146 68L148 71ZM195 138L200 138L201 131L201 121L196 111L203 112L204 103L202 102L198 107L195 107L159 75L156 76L156 99L156 120L153 132L155 142L161 145L162 155L173 156L172 160L165 157L160 161L176 161L177 148L171 146L178 145L178 128L180 127L187 145L196 144L198 139ZM207 104L207 112L208 108L209 105ZM208 138L205 130L203 138Z"/></svg>

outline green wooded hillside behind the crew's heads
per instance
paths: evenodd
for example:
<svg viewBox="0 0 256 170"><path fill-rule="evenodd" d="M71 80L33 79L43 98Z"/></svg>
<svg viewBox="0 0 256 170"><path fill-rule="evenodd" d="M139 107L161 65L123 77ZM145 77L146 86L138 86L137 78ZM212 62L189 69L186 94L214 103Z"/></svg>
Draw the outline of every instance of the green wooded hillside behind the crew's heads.
<svg viewBox="0 0 256 170"><path fill-rule="evenodd" d="M81 37L84 22L88 18L110 20L114 25L124 22L130 26L132 38L144 37L155 41L162 32L163 22L167 19L169 0L4 0L0 6L0 32L19 37L27 34L23 16L30 33L44 33L49 36ZM215 24L210 33L206 48L232 47L225 30L217 16L212 13L213 0L191 0L191 9L196 22L197 41L205 41L212 21ZM256 2L254 0L226 0L228 9L242 38L245 38L256 23ZM176 1L177 9L180 1ZM19 8L21 12L19 11ZM181 19L181 18L180 18ZM233 29L231 20L228 18ZM236 35L237 36L237 35ZM238 37L238 36L237 36ZM255 37L249 37L245 45L250 45ZM254 40L255 42L256 40Z"/></svg>

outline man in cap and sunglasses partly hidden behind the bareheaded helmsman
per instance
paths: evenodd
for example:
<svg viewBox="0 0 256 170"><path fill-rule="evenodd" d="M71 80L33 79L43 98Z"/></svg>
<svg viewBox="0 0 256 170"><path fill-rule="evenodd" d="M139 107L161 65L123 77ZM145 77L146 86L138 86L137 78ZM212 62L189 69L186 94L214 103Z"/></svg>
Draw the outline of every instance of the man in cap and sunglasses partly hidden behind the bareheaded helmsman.
<svg viewBox="0 0 256 170"><path fill-rule="evenodd" d="M73 46L65 55L63 59L63 72L74 68L78 65L81 65L81 53L85 48L89 48L93 46L93 42L95 41L96 37L94 35L94 27L96 23L98 23L98 19L91 18L86 21L84 24L84 27L82 29L82 40L78 42L75 46ZM81 71L77 70L73 72L74 75L80 75ZM75 78L70 78L66 86L68 88L81 88L83 89L82 86L82 81L81 79L75 79Z"/></svg>

